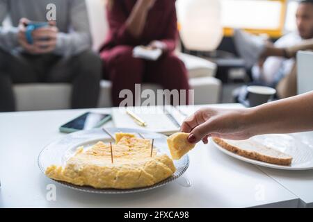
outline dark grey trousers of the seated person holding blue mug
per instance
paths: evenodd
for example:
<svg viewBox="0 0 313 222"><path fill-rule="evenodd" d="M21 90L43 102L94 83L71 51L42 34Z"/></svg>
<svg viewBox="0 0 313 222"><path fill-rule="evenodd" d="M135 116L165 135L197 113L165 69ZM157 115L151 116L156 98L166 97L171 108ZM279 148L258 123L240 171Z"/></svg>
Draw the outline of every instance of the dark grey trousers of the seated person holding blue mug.
<svg viewBox="0 0 313 222"><path fill-rule="evenodd" d="M72 108L95 108L102 62L93 51L63 58L0 49L0 112L15 111L13 84L72 83Z"/></svg>

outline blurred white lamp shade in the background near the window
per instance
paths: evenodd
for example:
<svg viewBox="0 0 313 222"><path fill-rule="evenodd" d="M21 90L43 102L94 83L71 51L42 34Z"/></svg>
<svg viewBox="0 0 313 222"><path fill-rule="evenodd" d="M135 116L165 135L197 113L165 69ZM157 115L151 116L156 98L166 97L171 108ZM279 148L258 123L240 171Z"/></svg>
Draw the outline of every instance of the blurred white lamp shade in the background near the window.
<svg viewBox="0 0 313 222"><path fill-rule="evenodd" d="M214 51L223 38L220 0L178 0L177 19L184 46L194 51Z"/></svg>

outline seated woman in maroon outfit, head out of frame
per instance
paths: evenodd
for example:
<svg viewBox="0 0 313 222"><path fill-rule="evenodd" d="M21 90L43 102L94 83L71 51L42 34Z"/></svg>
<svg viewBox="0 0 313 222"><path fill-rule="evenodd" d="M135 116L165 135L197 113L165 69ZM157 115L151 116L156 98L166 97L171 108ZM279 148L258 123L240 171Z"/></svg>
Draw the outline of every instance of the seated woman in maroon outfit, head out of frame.
<svg viewBox="0 0 313 222"><path fill-rule="evenodd" d="M104 78L113 84L113 105L123 100L119 98L122 89L134 93L135 84L143 82L186 89L188 94L186 68L174 54L178 36L175 0L109 0L106 8L110 31L101 58ZM134 58L132 51L138 45L159 48L163 54L155 62Z"/></svg>

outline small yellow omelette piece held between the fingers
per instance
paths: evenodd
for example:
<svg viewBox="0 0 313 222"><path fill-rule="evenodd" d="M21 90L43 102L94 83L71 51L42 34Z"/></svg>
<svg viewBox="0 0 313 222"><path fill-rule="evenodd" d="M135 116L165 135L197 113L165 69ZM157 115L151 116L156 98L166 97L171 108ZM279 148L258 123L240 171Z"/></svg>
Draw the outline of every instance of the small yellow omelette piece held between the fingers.
<svg viewBox="0 0 313 222"><path fill-rule="evenodd" d="M173 160L179 160L195 147L195 144L188 142L188 135L188 133L174 133L168 137L168 148L170 148L170 155L172 155Z"/></svg>

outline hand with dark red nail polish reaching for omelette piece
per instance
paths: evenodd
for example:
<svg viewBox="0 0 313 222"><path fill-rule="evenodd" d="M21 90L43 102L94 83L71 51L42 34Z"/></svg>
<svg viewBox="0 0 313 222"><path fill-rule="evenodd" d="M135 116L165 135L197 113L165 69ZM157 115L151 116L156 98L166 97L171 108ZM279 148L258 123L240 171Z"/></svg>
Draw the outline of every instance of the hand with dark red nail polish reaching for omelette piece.
<svg viewBox="0 0 313 222"><path fill-rule="evenodd" d="M188 142L208 143L208 137L225 139L248 139L252 136L249 129L248 109L226 110L203 108L182 124L182 132L189 133Z"/></svg>

